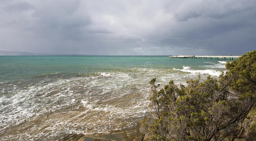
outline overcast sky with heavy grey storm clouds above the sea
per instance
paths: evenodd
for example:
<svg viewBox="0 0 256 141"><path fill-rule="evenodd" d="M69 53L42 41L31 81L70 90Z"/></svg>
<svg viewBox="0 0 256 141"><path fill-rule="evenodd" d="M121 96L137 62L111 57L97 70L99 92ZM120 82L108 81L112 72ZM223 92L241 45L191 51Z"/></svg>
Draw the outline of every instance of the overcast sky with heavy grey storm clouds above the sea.
<svg viewBox="0 0 256 141"><path fill-rule="evenodd" d="M0 50L80 55L241 55L256 0L0 0Z"/></svg>

